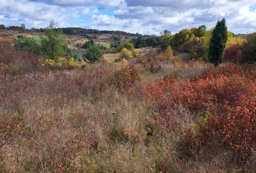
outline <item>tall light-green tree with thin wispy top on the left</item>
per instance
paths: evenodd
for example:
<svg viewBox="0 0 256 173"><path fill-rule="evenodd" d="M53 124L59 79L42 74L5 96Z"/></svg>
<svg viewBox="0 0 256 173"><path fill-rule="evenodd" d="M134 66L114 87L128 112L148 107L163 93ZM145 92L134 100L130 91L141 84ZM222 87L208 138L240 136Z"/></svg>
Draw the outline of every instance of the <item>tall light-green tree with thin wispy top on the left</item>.
<svg viewBox="0 0 256 173"><path fill-rule="evenodd" d="M48 59L57 59L64 52L62 48L62 31L55 29L55 26L55 21L53 19L50 20L50 25L45 29L45 37L41 37L42 54Z"/></svg>

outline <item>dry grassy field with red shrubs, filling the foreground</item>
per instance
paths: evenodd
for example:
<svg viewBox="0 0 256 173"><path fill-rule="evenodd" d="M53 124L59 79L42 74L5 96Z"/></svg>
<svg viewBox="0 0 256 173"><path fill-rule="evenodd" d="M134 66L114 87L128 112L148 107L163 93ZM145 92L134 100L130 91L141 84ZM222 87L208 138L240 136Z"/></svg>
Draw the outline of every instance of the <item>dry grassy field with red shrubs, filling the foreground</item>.
<svg viewBox="0 0 256 173"><path fill-rule="evenodd" d="M255 65L215 68L189 53L168 62L144 48L53 69L5 50L0 172L256 170Z"/></svg>

